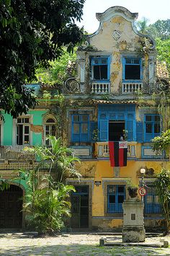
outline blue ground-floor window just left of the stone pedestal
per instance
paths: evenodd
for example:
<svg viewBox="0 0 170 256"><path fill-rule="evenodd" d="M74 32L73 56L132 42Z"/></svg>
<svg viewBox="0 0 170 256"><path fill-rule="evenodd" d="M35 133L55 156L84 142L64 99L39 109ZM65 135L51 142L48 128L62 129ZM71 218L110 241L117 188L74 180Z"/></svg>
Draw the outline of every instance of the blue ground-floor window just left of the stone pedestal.
<svg viewBox="0 0 170 256"><path fill-rule="evenodd" d="M122 203L125 200L125 185L107 186L107 212L122 213Z"/></svg>

